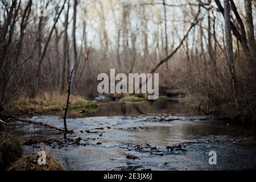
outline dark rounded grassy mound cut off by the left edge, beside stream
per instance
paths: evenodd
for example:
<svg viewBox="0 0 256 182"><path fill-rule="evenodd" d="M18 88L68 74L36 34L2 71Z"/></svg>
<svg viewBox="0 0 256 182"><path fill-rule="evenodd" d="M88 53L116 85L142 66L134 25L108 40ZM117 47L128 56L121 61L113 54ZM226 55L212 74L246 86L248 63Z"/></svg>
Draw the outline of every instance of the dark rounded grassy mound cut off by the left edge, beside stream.
<svg viewBox="0 0 256 182"><path fill-rule="evenodd" d="M0 171L22 156L22 142L9 133L0 133Z"/></svg>

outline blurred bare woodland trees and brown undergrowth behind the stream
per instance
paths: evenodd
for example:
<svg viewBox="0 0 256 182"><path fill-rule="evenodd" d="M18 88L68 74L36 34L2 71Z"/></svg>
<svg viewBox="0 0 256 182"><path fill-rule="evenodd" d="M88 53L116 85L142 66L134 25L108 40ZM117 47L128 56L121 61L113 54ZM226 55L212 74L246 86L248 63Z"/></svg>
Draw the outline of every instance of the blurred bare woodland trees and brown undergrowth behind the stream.
<svg viewBox="0 0 256 182"><path fill-rule="evenodd" d="M43 14L40 14L40 4ZM92 98L97 75L159 73L197 110L251 121L256 111L255 7L250 0L0 1L0 108L71 92Z"/></svg>

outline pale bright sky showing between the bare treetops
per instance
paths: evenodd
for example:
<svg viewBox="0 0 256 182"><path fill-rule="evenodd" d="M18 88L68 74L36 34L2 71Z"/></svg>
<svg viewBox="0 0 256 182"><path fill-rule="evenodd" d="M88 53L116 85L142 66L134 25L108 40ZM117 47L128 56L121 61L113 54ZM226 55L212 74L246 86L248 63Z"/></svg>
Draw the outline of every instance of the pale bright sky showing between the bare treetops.
<svg viewBox="0 0 256 182"><path fill-rule="evenodd" d="M154 46L154 34L155 32L159 32L160 34L160 28L164 27L164 15L163 15L163 5L162 0L156 0L156 1L150 1L150 0L139 0L139 1L119 1L119 0L105 0L101 1L103 5L103 13L101 11L99 1L80 1L80 6L78 9L79 13L79 19L77 22L77 42L81 43L81 34L82 34L82 21L84 18L86 19L86 22L88 23L86 26L86 32L88 34L88 42L92 44L94 48L99 48L100 46L100 27L101 27L101 20L100 20L100 14L105 17L105 28L108 34L110 47L112 49L115 48L115 39L117 36L117 25L115 23L115 19L117 19L117 22L119 24L122 24L122 5L129 5L130 6L130 12L129 12L129 20L130 20L130 32L135 32L137 35L140 35L139 37L142 37L141 31L142 31L142 6L145 7L145 14L147 21L147 34L148 34L148 44L150 46ZM189 1L190 3L198 3L195 1ZM238 11L242 11L244 14L244 5L243 1L234 1L237 4ZM166 4L168 5L174 5L174 6L167 6L167 27L168 27L168 37L170 38L170 42L172 42L171 39L174 38L174 43L179 44L179 38L177 36L181 37L184 34L184 28L189 27L189 23L192 21L193 15L196 14L197 6L189 6L187 0L180 0L180 1L174 1L174 0L167 0ZM181 6L176 6L181 5ZM185 5L185 6L182 6ZM216 4L213 2L212 5L214 7L217 7ZM242 7L242 9L239 9ZM86 15L84 13L86 11ZM204 9L201 10L201 14L205 14L206 11ZM72 14L72 11L70 12ZM185 14L185 17L184 17ZM217 17L217 26L220 26L221 21L223 23L223 17L220 13L214 12L211 16ZM115 16L115 17L114 17ZM254 12L255 16L255 12ZM184 22L185 20L185 22ZM162 23L161 23L162 22ZM255 22L254 22L255 23ZM59 23L60 26L60 23ZM121 25L122 26L122 25ZM207 27L207 21L203 22L203 26ZM181 28L184 27L184 28ZM217 34L222 34L220 28L216 28L216 30L219 30L219 32L216 32ZM204 30L207 32L207 30ZM120 40L122 42L122 39ZM129 39L129 42L131 40ZM142 42L141 39L137 39L137 50L142 51L142 46L139 42ZM192 43L192 40L189 39L189 43ZM130 43L131 44L131 43Z"/></svg>

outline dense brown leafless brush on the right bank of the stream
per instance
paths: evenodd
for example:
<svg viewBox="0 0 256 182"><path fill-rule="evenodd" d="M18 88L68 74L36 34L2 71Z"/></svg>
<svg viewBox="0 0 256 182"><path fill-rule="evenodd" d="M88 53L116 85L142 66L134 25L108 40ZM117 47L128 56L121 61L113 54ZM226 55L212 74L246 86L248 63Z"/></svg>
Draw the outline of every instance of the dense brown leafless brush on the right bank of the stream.
<svg viewBox="0 0 256 182"><path fill-rule="evenodd" d="M187 91L191 93L193 111L204 114L216 114L221 118L234 121L256 123L256 77L254 66L247 65L245 57L237 57L236 79L237 98L240 110L236 105L232 77L222 57L217 63L218 67L208 65L207 69L191 68L183 76ZM182 77L182 76L181 76Z"/></svg>

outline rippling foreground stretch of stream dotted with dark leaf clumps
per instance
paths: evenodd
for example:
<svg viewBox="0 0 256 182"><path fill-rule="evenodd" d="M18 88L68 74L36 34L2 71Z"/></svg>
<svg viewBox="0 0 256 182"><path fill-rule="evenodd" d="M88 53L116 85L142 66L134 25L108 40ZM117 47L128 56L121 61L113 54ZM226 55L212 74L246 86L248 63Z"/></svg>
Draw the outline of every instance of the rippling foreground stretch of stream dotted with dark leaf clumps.
<svg viewBox="0 0 256 182"><path fill-rule="evenodd" d="M33 117L62 127L59 117ZM51 148L68 170L241 170L256 168L255 130L199 115L73 118L74 134L17 122L25 151ZM209 165L209 151L217 165Z"/></svg>

